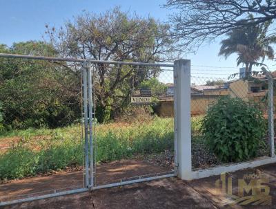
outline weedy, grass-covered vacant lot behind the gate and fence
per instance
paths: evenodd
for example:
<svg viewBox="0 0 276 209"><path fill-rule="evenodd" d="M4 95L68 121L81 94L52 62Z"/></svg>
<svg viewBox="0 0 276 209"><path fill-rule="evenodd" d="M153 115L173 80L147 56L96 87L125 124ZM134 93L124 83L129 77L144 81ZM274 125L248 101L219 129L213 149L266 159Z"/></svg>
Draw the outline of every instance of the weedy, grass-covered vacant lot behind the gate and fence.
<svg viewBox="0 0 276 209"><path fill-rule="evenodd" d="M201 116L192 118L193 167L220 162L201 136ZM57 129L26 129L0 135L0 179L22 179L37 174L83 168L83 126ZM137 122L95 124L97 164L139 158L153 165L172 166L174 161L173 118ZM260 149L259 156L266 154Z"/></svg>

